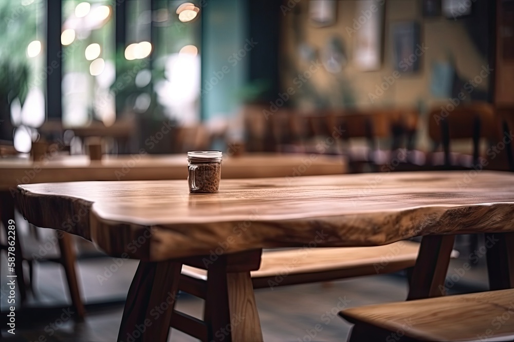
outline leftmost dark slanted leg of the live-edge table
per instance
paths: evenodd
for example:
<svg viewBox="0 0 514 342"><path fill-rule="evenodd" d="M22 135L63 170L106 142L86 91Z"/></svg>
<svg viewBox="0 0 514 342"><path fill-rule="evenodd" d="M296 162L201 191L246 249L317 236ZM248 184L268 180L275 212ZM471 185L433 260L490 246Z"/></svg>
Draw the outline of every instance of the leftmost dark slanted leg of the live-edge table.
<svg viewBox="0 0 514 342"><path fill-rule="evenodd" d="M118 342L166 342L182 264L139 261L125 303Z"/></svg>

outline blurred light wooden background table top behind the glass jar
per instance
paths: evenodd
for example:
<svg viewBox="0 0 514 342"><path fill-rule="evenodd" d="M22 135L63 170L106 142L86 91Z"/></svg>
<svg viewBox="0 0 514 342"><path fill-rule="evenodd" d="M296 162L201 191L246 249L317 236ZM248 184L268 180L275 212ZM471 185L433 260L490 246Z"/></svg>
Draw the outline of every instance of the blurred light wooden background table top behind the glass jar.
<svg viewBox="0 0 514 342"><path fill-rule="evenodd" d="M88 156L47 156L38 162L27 158L0 159L0 190L19 184L77 182L84 180L186 179L187 156L131 155L102 160ZM222 178L312 176L346 173L341 156L300 154L246 154L224 156Z"/></svg>

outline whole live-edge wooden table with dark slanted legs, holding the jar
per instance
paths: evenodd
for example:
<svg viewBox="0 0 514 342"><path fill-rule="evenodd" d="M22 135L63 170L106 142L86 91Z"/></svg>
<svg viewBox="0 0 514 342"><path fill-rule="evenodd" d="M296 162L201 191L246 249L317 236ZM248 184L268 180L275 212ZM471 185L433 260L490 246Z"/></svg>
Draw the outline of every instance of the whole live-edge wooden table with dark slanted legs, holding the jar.
<svg viewBox="0 0 514 342"><path fill-rule="evenodd" d="M227 340L262 340L250 280L262 248L376 246L426 236L412 276L412 299L441 295L453 234L494 233L488 235L494 241L488 249L491 288L514 285L510 173L226 179L219 193L200 195L190 195L185 180L17 189L29 222L93 240L113 256L141 259L125 305L122 340L147 319L152 327L136 340L166 340L182 264L207 269L216 295L227 299L215 309L206 306L210 337L230 324L231 315L242 315ZM66 225L72 217L75 224ZM170 304L167 310L152 316L163 301Z"/></svg>

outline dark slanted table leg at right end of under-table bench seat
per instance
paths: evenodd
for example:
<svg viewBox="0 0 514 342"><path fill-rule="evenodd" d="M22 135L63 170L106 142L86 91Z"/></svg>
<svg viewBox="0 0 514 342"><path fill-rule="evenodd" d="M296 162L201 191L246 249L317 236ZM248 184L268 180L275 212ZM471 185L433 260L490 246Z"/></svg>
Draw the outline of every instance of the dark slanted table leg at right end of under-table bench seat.
<svg viewBox="0 0 514 342"><path fill-rule="evenodd" d="M428 235L421 240L407 300L443 296L455 235Z"/></svg>

